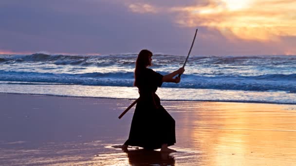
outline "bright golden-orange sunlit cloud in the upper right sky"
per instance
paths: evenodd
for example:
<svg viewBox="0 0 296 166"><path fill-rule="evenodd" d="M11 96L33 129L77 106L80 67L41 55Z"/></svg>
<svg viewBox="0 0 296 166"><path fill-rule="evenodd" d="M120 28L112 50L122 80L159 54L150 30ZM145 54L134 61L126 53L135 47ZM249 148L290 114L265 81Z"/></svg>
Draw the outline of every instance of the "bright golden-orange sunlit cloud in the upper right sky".
<svg viewBox="0 0 296 166"><path fill-rule="evenodd" d="M211 0L206 6L171 8L185 27L207 26L226 37L278 41L296 36L295 0Z"/></svg>

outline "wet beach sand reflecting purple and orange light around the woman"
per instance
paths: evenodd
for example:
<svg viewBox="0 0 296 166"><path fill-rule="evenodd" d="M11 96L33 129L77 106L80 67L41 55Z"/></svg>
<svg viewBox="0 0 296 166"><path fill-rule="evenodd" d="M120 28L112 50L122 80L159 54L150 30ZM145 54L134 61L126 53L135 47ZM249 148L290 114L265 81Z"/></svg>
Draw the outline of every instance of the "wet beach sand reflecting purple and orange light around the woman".
<svg viewBox="0 0 296 166"><path fill-rule="evenodd" d="M133 100L0 94L0 165L295 166L296 105L162 101L177 153L111 146Z"/></svg>

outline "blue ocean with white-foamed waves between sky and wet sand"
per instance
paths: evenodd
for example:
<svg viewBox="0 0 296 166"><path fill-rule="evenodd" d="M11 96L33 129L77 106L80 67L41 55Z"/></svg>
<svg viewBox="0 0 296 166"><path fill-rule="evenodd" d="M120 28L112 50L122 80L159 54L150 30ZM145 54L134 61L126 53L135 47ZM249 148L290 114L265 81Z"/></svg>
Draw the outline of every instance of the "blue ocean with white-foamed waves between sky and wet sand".
<svg viewBox="0 0 296 166"><path fill-rule="evenodd" d="M0 55L0 93L137 99L137 54ZM185 56L155 54L163 75ZM163 83L161 100L296 104L296 56L190 56L181 83Z"/></svg>

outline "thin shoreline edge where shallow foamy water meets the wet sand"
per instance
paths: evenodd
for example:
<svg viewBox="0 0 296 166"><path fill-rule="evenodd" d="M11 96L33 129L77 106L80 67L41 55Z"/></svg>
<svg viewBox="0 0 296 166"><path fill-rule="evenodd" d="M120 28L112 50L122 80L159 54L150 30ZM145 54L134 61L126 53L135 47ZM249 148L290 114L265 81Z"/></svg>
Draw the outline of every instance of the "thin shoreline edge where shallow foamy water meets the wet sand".
<svg viewBox="0 0 296 166"><path fill-rule="evenodd" d="M108 97L89 97L89 96L67 96L67 95L53 95L53 94L25 94L25 93L3 93L0 94L12 94L12 95L35 95L35 96L56 96L56 97L69 97L69 98L94 98L94 99L114 99L114 100L136 100L137 98L108 98ZM296 103L285 102L262 102L262 101L245 101L245 100L166 100L161 101L186 101L186 102L230 102L230 103L254 103L254 104L280 104L280 105L296 105Z"/></svg>

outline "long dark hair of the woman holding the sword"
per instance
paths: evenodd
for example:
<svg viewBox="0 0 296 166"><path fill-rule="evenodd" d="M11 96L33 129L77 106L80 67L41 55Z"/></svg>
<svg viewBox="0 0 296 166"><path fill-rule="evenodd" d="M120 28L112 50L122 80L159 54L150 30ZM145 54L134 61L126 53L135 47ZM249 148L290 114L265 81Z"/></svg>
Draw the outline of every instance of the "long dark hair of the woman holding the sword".
<svg viewBox="0 0 296 166"><path fill-rule="evenodd" d="M135 82L133 83L134 86L137 86L137 78L141 74L141 71L148 66L151 66L149 62L149 57L153 54L149 50L141 50L138 54L138 58L136 61L136 68L135 68Z"/></svg>

